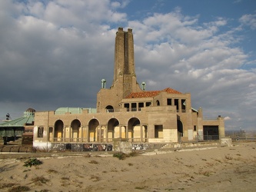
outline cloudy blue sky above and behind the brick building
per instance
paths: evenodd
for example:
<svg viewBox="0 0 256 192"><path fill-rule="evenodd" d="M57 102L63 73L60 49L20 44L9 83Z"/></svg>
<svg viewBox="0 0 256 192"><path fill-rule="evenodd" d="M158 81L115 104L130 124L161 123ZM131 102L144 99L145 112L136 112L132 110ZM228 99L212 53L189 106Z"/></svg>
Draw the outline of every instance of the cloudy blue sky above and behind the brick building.
<svg viewBox="0 0 256 192"><path fill-rule="evenodd" d="M118 27L133 29L139 84L190 92L205 118L255 130L254 0L1 1L0 120L95 108Z"/></svg>

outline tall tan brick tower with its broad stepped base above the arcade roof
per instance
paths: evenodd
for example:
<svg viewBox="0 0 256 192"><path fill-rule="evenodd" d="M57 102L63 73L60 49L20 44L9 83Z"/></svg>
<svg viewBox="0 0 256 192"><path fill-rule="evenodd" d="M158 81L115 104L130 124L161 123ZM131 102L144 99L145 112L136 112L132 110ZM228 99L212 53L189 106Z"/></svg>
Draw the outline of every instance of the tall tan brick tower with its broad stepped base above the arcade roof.
<svg viewBox="0 0 256 192"><path fill-rule="evenodd" d="M132 29L118 28L115 36L114 78L110 89L102 89L97 94L97 109L120 108L118 103L131 92L142 91L135 74L135 54Z"/></svg>

